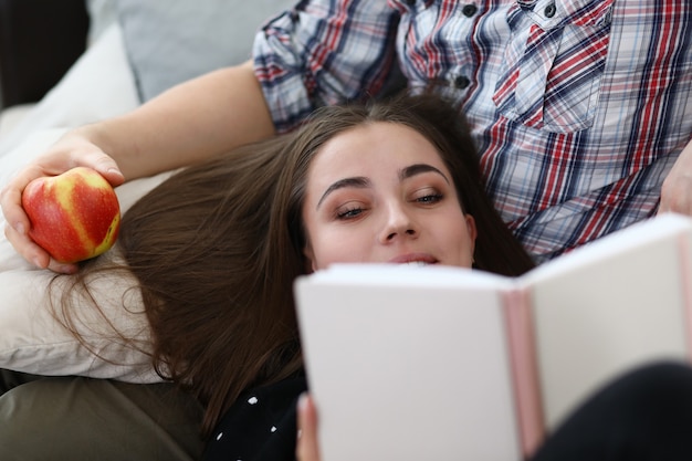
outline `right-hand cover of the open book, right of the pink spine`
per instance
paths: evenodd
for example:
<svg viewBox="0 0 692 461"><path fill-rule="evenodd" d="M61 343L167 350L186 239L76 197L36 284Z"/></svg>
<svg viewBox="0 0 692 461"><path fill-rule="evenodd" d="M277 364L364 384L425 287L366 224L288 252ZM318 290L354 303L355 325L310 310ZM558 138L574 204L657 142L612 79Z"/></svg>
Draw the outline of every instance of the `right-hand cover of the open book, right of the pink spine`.
<svg viewBox="0 0 692 461"><path fill-rule="evenodd" d="M549 428L635 366L688 359L691 222L659 217L525 276Z"/></svg>

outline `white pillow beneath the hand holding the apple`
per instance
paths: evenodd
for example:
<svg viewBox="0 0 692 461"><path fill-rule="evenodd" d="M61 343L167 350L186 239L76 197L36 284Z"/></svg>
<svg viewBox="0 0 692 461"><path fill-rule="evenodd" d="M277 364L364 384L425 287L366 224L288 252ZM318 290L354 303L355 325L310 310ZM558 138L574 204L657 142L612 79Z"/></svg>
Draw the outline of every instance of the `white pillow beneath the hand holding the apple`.
<svg viewBox="0 0 692 461"><path fill-rule="evenodd" d="M0 171L6 171L6 166L21 165L43 151L63 132L50 129L32 135L0 159ZM161 174L118 187L116 192L122 211L167 176ZM4 178L0 187L4 185L7 175ZM4 217L0 213L0 228L4 226ZM108 258L117 258L117 245L103 260ZM78 306L76 329L86 338L87 346L54 317L56 312L60 313L60 300L54 298L52 303L49 294L60 295L62 292L49 292L53 276L48 270L31 266L14 252L4 233L0 235L0 368L38 375L116 378L130 383L161 380L147 355L150 333L141 300L137 290L128 290L135 285L132 275L120 274L90 282L106 318L88 303ZM62 282L65 281L69 276L64 276ZM141 349L119 340L115 332L135 339Z"/></svg>

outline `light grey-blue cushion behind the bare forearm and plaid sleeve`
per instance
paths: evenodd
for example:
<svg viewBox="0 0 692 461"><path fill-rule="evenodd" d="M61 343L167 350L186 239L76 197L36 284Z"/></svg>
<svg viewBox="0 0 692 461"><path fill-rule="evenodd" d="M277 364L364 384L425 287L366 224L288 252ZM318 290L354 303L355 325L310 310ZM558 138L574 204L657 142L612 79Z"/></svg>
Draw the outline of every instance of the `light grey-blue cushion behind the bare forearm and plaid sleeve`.
<svg viewBox="0 0 692 461"><path fill-rule="evenodd" d="M295 0L116 0L141 101L251 57L259 27Z"/></svg>

